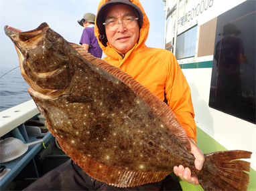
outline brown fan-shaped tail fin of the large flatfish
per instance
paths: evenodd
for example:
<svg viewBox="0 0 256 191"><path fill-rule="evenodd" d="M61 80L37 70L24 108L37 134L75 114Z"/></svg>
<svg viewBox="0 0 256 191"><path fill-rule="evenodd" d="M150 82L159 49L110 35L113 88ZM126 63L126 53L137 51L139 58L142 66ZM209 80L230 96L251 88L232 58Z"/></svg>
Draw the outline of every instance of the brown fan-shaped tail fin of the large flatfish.
<svg viewBox="0 0 256 191"><path fill-rule="evenodd" d="M249 185L250 163L241 158L251 158L251 152L231 150L205 155L198 180L204 190L247 190Z"/></svg>

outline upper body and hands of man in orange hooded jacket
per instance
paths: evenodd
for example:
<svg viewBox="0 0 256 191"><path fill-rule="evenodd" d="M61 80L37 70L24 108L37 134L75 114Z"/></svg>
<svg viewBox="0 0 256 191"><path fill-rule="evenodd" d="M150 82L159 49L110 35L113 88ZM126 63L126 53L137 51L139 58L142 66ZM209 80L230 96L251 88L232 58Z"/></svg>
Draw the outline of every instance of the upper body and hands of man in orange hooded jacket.
<svg viewBox="0 0 256 191"><path fill-rule="evenodd" d="M131 19L135 21L129 22ZM145 45L149 20L139 0L101 1L96 22L95 35L107 55L103 59L133 76L163 101L168 101L191 140L195 166L201 170L204 156L195 144L196 124L190 88L170 51ZM176 166L174 173L182 180L199 184L188 168Z"/></svg>

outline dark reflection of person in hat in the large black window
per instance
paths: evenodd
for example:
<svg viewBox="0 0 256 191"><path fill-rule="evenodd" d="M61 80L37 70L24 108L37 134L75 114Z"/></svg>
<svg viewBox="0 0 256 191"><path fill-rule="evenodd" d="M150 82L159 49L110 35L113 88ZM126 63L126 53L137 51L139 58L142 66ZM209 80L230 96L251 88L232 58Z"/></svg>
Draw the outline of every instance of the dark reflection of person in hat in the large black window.
<svg viewBox="0 0 256 191"><path fill-rule="evenodd" d="M214 58L218 67L218 88L216 97L243 103L241 63L245 63L243 41L237 37L241 30L234 23L223 25L223 38L215 47Z"/></svg>

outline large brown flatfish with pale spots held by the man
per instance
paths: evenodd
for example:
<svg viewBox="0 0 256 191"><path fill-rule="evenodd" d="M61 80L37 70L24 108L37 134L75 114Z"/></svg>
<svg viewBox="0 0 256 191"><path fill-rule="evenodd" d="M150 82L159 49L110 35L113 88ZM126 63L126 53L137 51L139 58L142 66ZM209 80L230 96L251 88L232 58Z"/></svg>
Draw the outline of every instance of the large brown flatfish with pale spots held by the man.
<svg viewBox="0 0 256 191"><path fill-rule="evenodd" d="M196 170L188 138L172 110L131 76L68 43L46 23L27 32L6 26L5 33L15 43L21 74L50 132L88 175L129 187L163 180L182 164L205 190L218 184L211 183L219 179L216 175L207 174L218 171L212 158L222 153L206 156L203 170ZM251 153L229 156L230 161ZM239 169L248 166L243 162ZM249 184L244 179L240 190Z"/></svg>

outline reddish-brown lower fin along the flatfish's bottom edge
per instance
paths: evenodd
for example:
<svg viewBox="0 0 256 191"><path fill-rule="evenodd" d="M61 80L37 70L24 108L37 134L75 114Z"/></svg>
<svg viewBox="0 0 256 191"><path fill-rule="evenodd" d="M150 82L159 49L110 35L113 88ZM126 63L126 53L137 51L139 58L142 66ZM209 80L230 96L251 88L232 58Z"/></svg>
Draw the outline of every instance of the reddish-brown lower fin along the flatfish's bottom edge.
<svg viewBox="0 0 256 191"><path fill-rule="evenodd" d="M54 131L50 129L50 132L54 134ZM115 168L107 166L92 158L88 158L85 154L78 152L70 144L67 144L60 137L56 136L58 143L60 144L62 150L72 158L86 174L99 180L101 182L106 182L111 186L117 186L120 188L127 188L131 186L139 186L142 184L147 184L151 182L158 182L164 180L170 171L160 171L160 172L139 172L135 170L125 170L121 168Z"/></svg>

